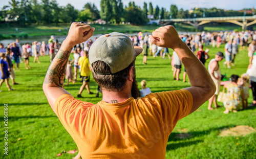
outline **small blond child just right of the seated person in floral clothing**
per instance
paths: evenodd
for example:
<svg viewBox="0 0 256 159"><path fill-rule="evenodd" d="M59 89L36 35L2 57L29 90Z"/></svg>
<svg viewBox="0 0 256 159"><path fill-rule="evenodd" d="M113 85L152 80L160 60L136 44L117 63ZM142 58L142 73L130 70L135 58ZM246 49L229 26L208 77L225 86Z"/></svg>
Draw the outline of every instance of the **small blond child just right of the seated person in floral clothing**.
<svg viewBox="0 0 256 159"><path fill-rule="evenodd" d="M242 74L240 78L239 84L242 86L242 104L243 109L246 109L248 106L248 98L249 98L249 75L248 74Z"/></svg>

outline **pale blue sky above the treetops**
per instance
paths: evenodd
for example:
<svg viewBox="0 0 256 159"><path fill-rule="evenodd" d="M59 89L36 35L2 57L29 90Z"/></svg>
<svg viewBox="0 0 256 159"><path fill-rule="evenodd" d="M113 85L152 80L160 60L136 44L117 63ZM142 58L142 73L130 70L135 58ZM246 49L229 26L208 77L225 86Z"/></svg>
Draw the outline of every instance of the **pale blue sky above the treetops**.
<svg viewBox="0 0 256 159"><path fill-rule="evenodd" d="M0 8L2 8L5 5L8 5L8 2L10 0L0 0ZM129 2L131 0L122 0L122 3L124 6L128 6ZM178 9L183 8L184 10L190 10L191 8L220 8L225 10L241 10L244 8L256 8L256 1L255 0L242 0L242 1L236 1L236 0L157 0L157 1L147 1L147 0L136 0L134 1L135 5L140 6L143 8L144 2L147 3L147 8L152 2L153 8L158 7L161 9L162 7L165 8L167 11L170 10L170 5L174 4L178 7ZM74 6L75 9L81 10L82 7L86 3L94 3L98 10L100 10L100 0L57 0L57 3L59 6L66 6L67 4L71 4Z"/></svg>

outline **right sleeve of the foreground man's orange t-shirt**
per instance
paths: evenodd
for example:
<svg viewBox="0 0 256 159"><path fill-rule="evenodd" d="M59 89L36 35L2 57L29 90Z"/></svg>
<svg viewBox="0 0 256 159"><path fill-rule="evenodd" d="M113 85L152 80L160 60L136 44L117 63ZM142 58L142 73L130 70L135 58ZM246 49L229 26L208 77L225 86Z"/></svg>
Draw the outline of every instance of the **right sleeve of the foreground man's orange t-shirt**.
<svg viewBox="0 0 256 159"><path fill-rule="evenodd" d="M154 96L156 98L154 98ZM189 115L193 106L193 96L186 89L150 94L150 97L160 107L163 122L171 132L176 123Z"/></svg>

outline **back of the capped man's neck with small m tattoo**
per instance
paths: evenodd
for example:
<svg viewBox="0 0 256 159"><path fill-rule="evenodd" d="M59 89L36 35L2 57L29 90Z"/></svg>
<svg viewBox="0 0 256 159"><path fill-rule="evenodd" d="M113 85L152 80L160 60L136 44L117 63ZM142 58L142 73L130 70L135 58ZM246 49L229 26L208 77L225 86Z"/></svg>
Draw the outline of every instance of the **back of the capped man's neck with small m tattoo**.
<svg viewBox="0 0 256 159"><path fill-rule="evenodd" d="M106 103L120 103L132 97L131 89L130 92L127 89L123 89L121 92L112 92L109 90L102 90L102 100Z"/></svg>

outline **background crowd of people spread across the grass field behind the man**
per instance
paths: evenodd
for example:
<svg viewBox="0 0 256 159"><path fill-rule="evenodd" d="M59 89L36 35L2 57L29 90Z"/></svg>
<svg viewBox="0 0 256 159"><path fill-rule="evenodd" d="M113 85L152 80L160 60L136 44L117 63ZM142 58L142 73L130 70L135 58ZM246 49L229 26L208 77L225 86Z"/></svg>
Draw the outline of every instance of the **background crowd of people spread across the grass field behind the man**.
<svg viewBox="0 0 256 159"><path fill-rule="evenodd" d="M210 56L208 55L209 49L206 48L204 50L204 47L208 47L211 45L212 47L219 48L220 44L226 43L225 49L223 50L224 54L222 52L217 53L216 57L211 59L208 64L209 74L211 75L212 79L215 81L215 84L217 86L216 94L209 99L208 109L209 110L213 109L211 107L212 103L214 103L214 106L216 108L219 107L219 105L217 104L217 95L220 92L219 90L220 89L219 87L221 85L220 81L221 81L221 78L223 78L223 75L220 72L220 67L218 62L221 61L222 59L225 59L224 66L227 66L228 69L231 69L231 66L233 67L235 66L234 60L236 58L236 55L239 53L239 51L242 51L242 50L244 51L247 48L248 56L249 56L248 70L251 70L250 67L253 66L253 61L255 61L256 33L253 31L245 31L245 32L244 31L242 32L226 31L226 32L214 32L214 33L201 32L197 34L187 34L187 33L180 34L179 37L187 44L190 50L196 54L198 59L203 64L205 64L206 60L210 58ZM87 89L88 94L94 94L90 90L90 72L91 72L90 69L91 68L90 68L89 59L88 59L88 52L93 42L96 39L97 38L95 38L94 40L89 39L85 42L76 44L76 46L73 48L71 52L73 54L73 58L71 56L67 64L66 79L65 79L66 85L68 85L70 82L72 83L77 82L77 78L80 78L82 82L82 85L79 89L77 97L82 97L81 93L85 88ZM165 59L165 55L167 54L168 59L172 60L171 65L172 65L172 71L173 71L173 79L177 81L181 80L180 73L181 73L182 62L179 56L176 54L176 52L173 52L171 57L168 48L156 46L151 42L148 34L145 34L145 36L143 36L142 32L139 32L138 35L130 36L130 39L132 40L134 46L139 46L143 48L143 56L144 56L143 64L147 64L147 56L153 56L154 58L156 58L157 56L160 56L162 59ZM47 50L49 50L50 62L52 62L60 46L61 46L61 43L59 43L59 41L55 39L53 35L48 40L48 43L46 43L45 41L42 41L42 42L34 41L32 42L32 44L25 43L22 46L20 46L18 39L8 44L7 47L4 47L4 45L1 43L0 52L4 54L1 54L1 64L2 64L1 78L2 79L0 82L0 88L5 81L8 89L14 90L12 86L9 84L9 78L11 78L12 80L12 85L18 84L17 82L15 82L14 70L15 69L19 70L20 62L23 62L25 64L25 67L27 70L31 69L31 66L29 64L29 58L33 56L34 57L33 62L40 63L39 56L46 56ZM253 71L249 71L249 73L250 72L253 73ZM243 78L241 77L241 79ZM236 80L234 80L233 82L235 82ZM253 86L255 86L255 83L254 83L255 80L254 81L253 80L254 80L253 77L250 76L250 80L248 81L251 82L250 84L252 85L252 92L253 92L253 103L251 105L256 104L255 88L253 88ZM186 82L185 68L183 73L183 82ZM143 83L145 83L145 81L143 81ZM229 87L230 85L231 84L229 84ZM240 85L241 88L244 88L244 86L242 86L243 84L238 84L238 85ZM144 89L143 87L144 86L142 86L142 90ZM224 85L224 87L228 88L227 85ZM0 92L1 92L1 89L0 89ZM99 96L99 92L101 92L101 89L98 86L96 97ZM242 101L242 96L243 97L245 96L243 95L245 92L246 92L245 90L240 92L241 101ZM145 96L144 93L141 93L141 94L142 94L141 95L142 97ZM241 104L242 103L243 103L242 108L246 108L248 105L248 102L241 102ZM224 103L224 105L227 105L227 104ZM227 112L227 110L225 112Z"/></svg>

